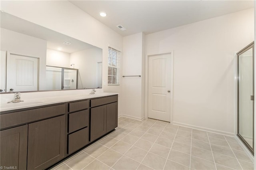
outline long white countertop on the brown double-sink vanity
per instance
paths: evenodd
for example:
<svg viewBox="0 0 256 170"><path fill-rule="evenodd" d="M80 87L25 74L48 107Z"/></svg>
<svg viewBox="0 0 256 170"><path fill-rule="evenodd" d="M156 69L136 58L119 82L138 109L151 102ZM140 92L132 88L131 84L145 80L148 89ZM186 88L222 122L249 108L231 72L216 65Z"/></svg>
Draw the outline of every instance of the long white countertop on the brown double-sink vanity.
<svg viewBox="0 0 256 170"><path fill-rule="evenodd" d="M23 108L50 105L54 103L62 103L62 102L82 100L82 99L92 99L96 97L104 97L104 96L117 95L117 94L118 93L95 93L94 95L89 95L89 93L74 93L72 95L63 94L63 95L50 96L50 97L47 97L46 95L44 95L44 97L41 97L41 98L33 97L31 99L29 99L28 97L27 97L28 99L23 99L21 97L21 100L24 100L24 101L19 103L7 103L6 101L2 102L3 100L1 100L0 111L1 112L10 111L14 109L23 109Z"/></svg>

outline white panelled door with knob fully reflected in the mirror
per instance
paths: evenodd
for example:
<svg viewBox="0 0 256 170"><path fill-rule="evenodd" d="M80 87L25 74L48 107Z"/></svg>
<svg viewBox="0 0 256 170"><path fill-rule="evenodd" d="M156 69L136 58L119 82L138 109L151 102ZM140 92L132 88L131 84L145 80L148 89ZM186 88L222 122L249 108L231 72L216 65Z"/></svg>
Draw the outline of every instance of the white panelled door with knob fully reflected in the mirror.
<svg viewBox="0 0 256 170"><path fill-rule="evenodd" d="M6 92L38 90L38 58L7 53Z"/></svg>

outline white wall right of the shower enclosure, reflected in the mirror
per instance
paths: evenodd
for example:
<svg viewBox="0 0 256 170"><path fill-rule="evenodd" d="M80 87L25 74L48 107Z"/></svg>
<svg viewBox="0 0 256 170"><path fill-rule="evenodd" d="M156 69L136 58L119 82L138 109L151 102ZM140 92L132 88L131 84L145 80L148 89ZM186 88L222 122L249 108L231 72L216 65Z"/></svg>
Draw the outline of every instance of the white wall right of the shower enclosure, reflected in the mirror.
<svg viewBox="0 0 256 170"><path fill-rule="evenodd" d="M78 89L96 88L97 63L102 61L102 49L92 47L70 54L70 64L75 64L78 73ZM73 68L73 67L71 67ZM82 79L81 79L82 78Z"/></svg>

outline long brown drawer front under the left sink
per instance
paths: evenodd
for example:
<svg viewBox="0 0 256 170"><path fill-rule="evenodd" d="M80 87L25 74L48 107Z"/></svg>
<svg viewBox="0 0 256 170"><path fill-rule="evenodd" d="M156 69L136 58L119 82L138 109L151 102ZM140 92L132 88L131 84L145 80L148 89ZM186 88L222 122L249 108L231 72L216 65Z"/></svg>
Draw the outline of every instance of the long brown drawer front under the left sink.
<svg viewBox="0 0 256 170"><path fill-rule="evenodd" d="M66 104L0 115L0 128L14 127L66 113Z"/></svg>

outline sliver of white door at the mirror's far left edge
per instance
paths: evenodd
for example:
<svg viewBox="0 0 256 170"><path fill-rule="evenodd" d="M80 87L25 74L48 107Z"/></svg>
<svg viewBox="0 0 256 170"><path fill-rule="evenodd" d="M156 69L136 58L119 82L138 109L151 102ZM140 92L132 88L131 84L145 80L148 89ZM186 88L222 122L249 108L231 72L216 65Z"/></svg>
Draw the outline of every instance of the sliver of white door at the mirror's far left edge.
<svg viewBox="0 0 256 170"><path fill-rule="evenodd" d="M6 92L6 51L1 51L0 60L0 93Z"/></svg>

